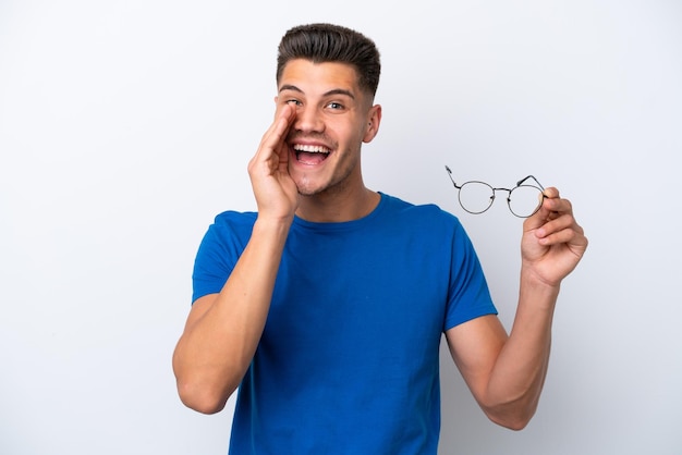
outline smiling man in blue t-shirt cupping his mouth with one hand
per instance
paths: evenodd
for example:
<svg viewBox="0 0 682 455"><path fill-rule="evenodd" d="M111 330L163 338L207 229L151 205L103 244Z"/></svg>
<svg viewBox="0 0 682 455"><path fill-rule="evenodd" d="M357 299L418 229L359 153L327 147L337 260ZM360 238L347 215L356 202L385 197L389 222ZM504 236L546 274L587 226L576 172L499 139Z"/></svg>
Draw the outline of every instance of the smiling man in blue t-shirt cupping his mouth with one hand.
<svg viewBox="0 0 682 455"><path fill-rule="evenodd" d="M289 30L276 114L248 163L257 212L216 218L173 356L181 399L220 411L239 388L232 454L435 454L438 348L485 414L537 407L559 286L587 239L556 188L524 221L508 336L455 217L363 183L379 53L340 26Z"/></svg>

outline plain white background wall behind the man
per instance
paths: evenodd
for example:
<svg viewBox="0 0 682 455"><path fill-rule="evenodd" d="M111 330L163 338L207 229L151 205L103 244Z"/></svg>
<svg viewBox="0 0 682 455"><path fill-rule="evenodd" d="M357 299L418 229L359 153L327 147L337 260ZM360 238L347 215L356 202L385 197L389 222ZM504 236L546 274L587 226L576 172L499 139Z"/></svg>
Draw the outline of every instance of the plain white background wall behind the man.
<svg viewBox="0 0 682 455"><path fill-rule="evenodd" d="M255 208L277 44L316 21L382 54L367 185L460 216L508 328L521 222L463 213L443 164L533 173L590 239L535 419L488 422L443 352L441 453L682 453L672 0L0 0L0 452L227 452L232 402L184 408L171 354L206 228Z"/></svg>

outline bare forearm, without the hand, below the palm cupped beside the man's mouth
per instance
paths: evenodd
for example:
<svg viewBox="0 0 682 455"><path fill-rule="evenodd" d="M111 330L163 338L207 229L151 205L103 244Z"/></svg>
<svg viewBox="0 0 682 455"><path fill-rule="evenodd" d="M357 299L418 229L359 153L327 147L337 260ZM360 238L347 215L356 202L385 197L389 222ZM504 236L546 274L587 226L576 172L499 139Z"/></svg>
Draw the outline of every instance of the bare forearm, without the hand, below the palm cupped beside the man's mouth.
<svg viewBox="0 0 682 455"><path fill-rule="evenodd" d="M256 221L252 238L222 291L197 302L173 355L183 403L203 413L222 409L239 386L263 334L287 223Z"/></svg>

